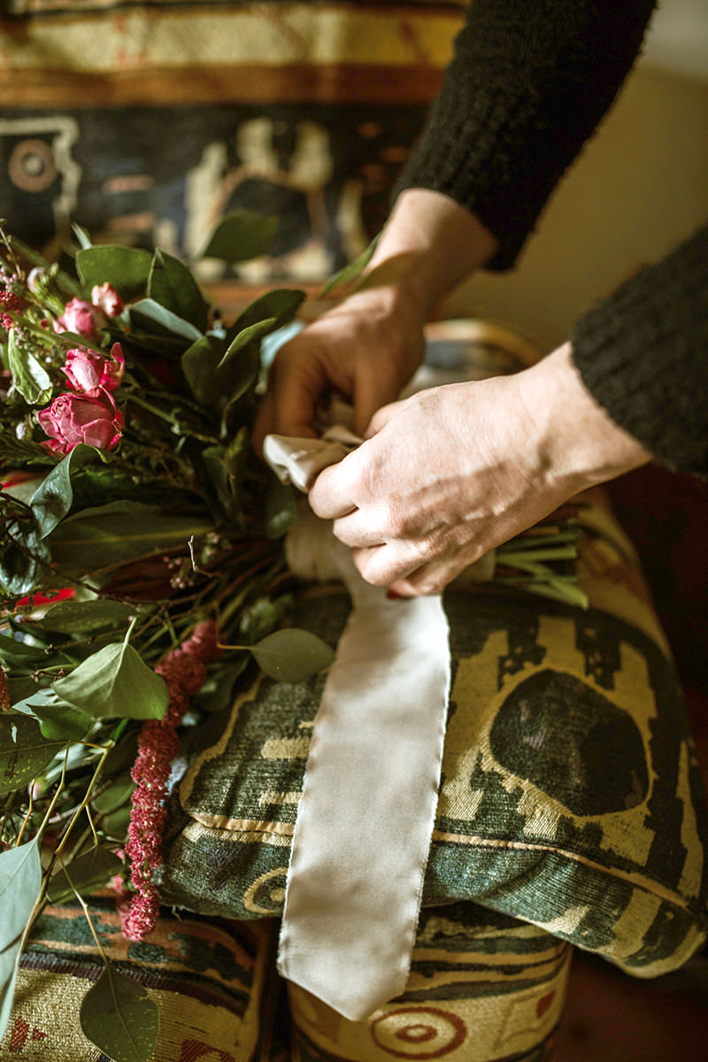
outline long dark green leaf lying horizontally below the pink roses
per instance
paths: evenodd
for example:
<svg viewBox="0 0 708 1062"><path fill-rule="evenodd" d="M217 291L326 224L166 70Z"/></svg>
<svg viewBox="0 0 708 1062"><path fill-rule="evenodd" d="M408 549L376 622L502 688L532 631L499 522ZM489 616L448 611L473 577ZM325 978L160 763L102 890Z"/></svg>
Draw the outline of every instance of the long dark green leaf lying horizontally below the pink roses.
<svg viewBox="0 0 708 1062"><path fill-rule="evenodd" d="M207 534L204 517L172 516L137 501L111 501L63 520L52 534L52 560L63 572L85 575L184 545Z"/></svg>

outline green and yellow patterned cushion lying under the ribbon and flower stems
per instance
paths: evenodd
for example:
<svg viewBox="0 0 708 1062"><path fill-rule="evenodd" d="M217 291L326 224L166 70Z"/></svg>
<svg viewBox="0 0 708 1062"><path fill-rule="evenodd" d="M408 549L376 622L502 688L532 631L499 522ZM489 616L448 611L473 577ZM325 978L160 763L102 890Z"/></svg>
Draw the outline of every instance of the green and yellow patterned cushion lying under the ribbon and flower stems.
<svg viewBox="0 0 708 1062"><path fill-rule="evenodd" d="M632 546L601 494L581 500L588 610L445 595L453 682L424 905L472 901L653 976L705 937L705 798ZM341 586L309 587L294 623L335 646L348 611ZM168 903L280 912L324 683L254 678L226 724L195 736L172 806Z"/></svg>

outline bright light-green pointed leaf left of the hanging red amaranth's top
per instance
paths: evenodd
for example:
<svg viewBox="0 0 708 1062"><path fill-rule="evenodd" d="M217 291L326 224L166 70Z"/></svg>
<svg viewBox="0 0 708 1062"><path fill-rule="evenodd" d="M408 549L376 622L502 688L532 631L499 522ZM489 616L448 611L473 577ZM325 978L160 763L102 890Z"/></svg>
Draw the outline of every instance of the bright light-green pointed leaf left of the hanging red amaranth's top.
<svg viewBox="0 0 708 1062"><path fill-rule="evenodd" d="M165 680L125 643L99 649L52 689L93 719L161 719L170 703Z"/></svg>

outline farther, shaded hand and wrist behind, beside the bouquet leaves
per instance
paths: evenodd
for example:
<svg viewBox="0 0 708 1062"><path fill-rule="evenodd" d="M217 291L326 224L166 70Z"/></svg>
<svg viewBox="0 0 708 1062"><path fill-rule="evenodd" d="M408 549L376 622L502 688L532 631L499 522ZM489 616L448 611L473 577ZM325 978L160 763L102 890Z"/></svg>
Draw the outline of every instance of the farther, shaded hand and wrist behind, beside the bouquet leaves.
<svg viewBox="0 0 708 1062"><path fill-rule="evenodd" d="M269 432L315 435L318 400L353 401L362 435L377 409L398 397L425 354L422 327L435 303L497 249L464 207L439 192L403 192L353 292L277 354L254 445Z"/></svg>

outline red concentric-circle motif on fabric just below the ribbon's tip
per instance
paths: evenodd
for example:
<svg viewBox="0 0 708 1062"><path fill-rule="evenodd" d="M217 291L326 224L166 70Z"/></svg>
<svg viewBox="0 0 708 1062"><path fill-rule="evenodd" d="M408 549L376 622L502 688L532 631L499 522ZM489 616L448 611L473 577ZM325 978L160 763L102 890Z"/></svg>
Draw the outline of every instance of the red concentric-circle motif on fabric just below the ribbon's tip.
<svg viewBox="0 0 708 1062"><path fill-rule="evenodd" d="M372 1039L399 1059L439 1059L467 1038L467 1026L457 1014L436 1007L401 1007L377 1018Z"/></svg>

